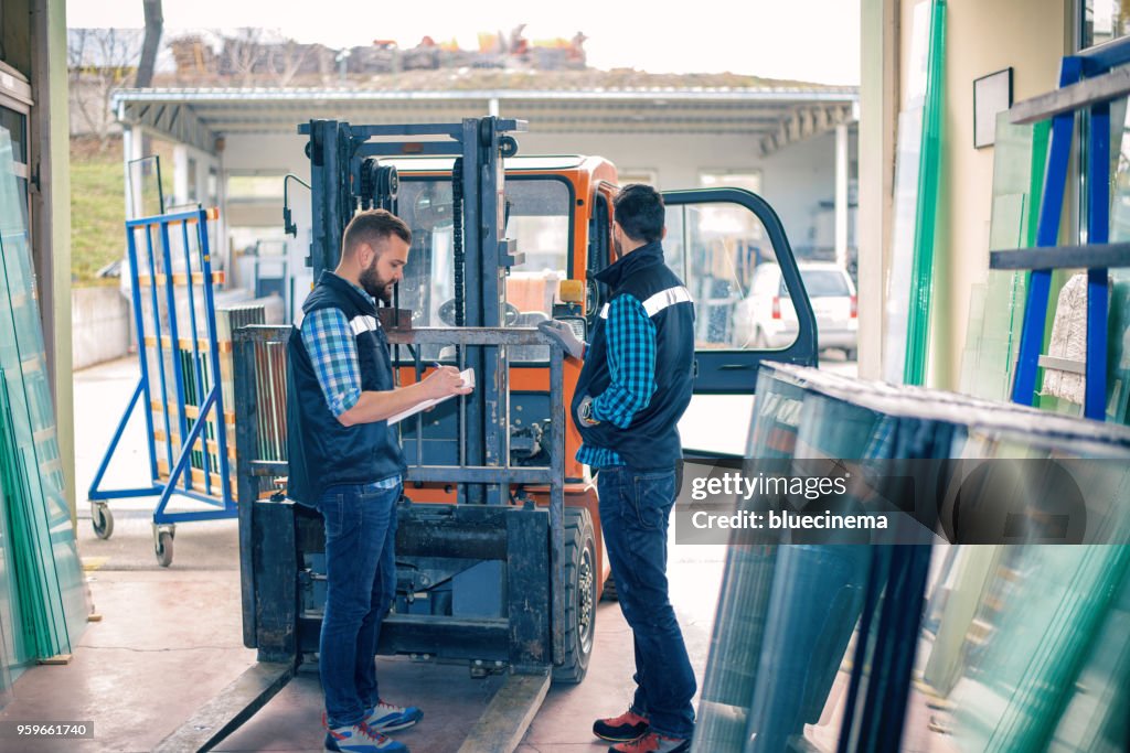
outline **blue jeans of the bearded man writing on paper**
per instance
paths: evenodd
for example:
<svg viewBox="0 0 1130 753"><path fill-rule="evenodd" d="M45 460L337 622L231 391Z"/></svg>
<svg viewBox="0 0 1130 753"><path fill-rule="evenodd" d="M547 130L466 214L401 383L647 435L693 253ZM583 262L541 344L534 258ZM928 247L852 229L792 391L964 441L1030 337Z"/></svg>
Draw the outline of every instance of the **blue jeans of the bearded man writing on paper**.
<svg viewBox="0 0 1130 753"><path fill-rule="evenodd" d="M397 500L401 487L330 487L325 519L325 614L319 672L331 727L360 721L380 694L376 641L397 594Z"/></svg>

